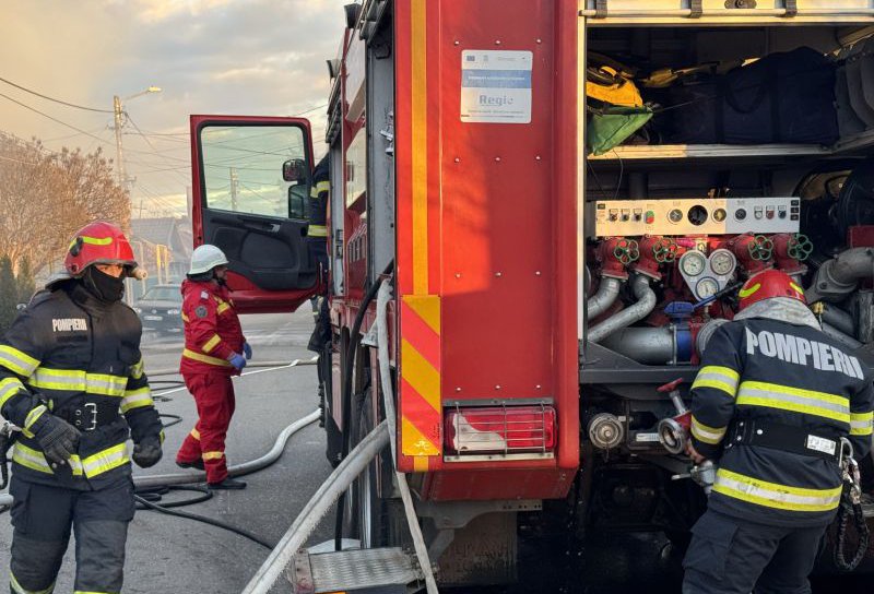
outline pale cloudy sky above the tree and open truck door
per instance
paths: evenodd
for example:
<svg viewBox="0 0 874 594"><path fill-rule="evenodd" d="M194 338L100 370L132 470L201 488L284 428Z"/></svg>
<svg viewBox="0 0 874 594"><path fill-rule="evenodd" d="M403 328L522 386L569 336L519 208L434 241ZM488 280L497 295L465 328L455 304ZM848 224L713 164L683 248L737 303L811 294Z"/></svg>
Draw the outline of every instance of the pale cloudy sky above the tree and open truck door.
<svg viewBox="0 0 874 594"><path fill-rule="evenodd" d="M315 138L323 135L326 60L336 55L347 2L4 0L0 130L36 136L54 151L101 147L115 158L111 114L67 107L9 82L108 110L114 95L160 86L123 105L125 163L144 216L181 214L191 185L190 114L305 112Z"/></svg>

